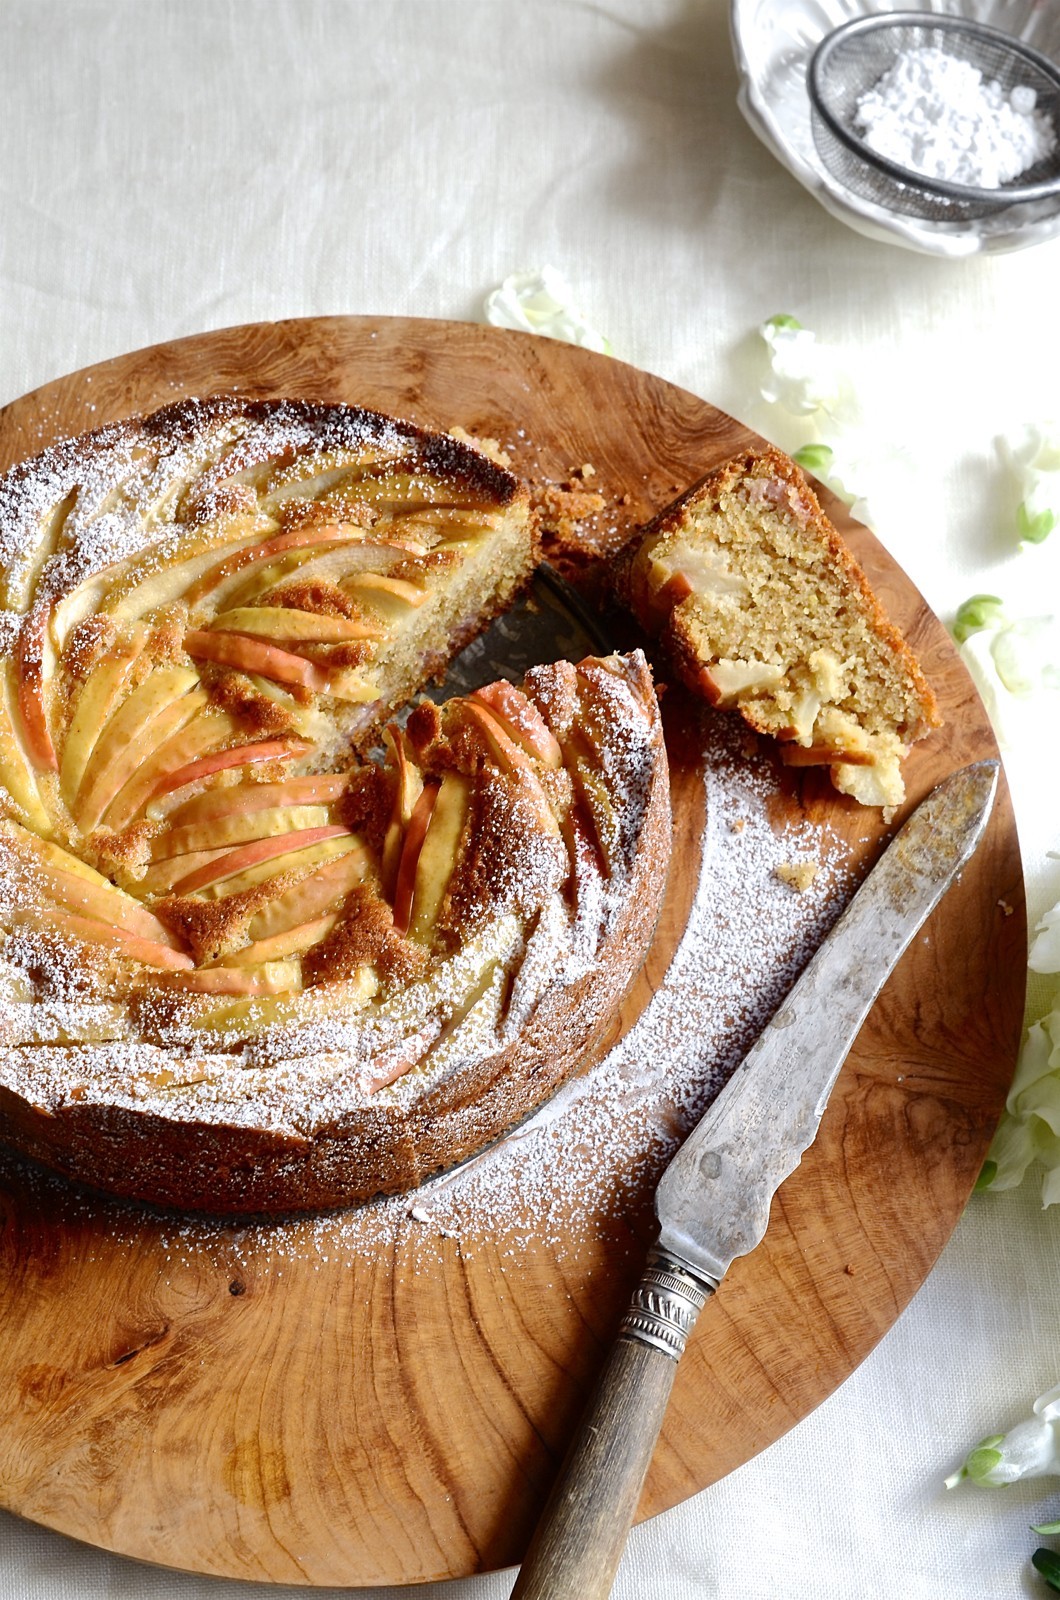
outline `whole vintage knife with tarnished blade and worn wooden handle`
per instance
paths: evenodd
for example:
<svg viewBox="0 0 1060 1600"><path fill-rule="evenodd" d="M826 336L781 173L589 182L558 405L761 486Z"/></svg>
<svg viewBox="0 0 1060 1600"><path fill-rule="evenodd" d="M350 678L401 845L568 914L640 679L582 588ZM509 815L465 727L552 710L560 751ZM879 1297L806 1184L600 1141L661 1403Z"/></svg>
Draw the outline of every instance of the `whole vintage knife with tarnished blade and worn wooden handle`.
<svg viewBox="0 0 1060 1600"><path fill-rule="evenodd" d="M512 1600L610 1594L689 1334L737 1256L765 1235L873 1002L983 837L998 770L964 766L921 802L666 1168L658 1240Z"/></svg>

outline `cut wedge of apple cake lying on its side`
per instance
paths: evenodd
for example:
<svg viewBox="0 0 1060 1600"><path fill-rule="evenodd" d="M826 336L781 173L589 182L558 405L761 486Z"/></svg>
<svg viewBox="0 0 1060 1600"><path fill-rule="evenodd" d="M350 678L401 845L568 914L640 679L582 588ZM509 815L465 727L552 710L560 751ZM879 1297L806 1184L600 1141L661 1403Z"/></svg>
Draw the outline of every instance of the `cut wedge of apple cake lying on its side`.
<svg viewBox="0 0 1060 1600"><path fill-rule="evenodd" d="M684 682L786 762L901 803L935 696L794 461L751 451L709 472L623 552L615 587Z"/></svg>

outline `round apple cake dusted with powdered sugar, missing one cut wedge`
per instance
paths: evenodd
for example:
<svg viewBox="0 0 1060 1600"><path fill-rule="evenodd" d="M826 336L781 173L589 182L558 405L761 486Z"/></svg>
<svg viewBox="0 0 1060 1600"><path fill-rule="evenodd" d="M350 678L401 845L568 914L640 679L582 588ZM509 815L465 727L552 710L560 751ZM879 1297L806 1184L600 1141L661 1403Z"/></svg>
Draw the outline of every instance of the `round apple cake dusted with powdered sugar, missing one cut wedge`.
<svg viewBox="0 0 1060 1600"><path fill-rule="evenodd" d="M578 1067L650 941L639 653L386 714L535 562L445 435L210 400L0 482L0 1134L218 1213L410 1187Z"/></svg>

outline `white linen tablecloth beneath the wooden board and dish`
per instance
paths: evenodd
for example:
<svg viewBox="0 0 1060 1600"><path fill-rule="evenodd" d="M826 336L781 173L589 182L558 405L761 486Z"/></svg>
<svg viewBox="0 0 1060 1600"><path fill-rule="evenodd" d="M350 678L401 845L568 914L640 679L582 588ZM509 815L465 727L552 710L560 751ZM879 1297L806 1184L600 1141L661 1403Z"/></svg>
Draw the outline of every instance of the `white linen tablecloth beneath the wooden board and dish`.
<svg viewBox="0 0 1060 1600"><path fill-rule="evenodd" d="M993 440L1060 413L1060 242L966 262L869 243L757 144L735 88L724 0L5 0L0 402L205 328L477 317L548 261L618 355L789 448L799 429L756 400L754 328L797 315L916 456L879 531L940 614L983 589L1055 603L1060 549L1017 554ZM1050 742L1009 758L1034 915L1060 893ZM1049 1485L940 1483L1060 1378L1058 1266L1031 1187L974 1200L857 1374L636 1530L615 1594L1039 1594L1026 1525L1057 1515ZM0 1600L242 1594L0 1512Z"/></svg>

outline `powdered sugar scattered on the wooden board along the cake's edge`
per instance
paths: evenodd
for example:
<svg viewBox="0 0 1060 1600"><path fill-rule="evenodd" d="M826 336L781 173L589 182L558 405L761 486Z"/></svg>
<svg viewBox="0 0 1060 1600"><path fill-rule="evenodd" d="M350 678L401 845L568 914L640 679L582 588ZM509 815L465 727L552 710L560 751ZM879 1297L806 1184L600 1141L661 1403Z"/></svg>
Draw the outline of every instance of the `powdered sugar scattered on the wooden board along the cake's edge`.
<svg viewBox="0 0 1060 1600"><path fill-rule="evenodd" d="M189 1261L436 1264L458 1248L517 1256L530 1240L557 1259L639 1213L666 1162L765 1026L852 890L847 846L805 821L775 830L780 779L745 730L705 718L706 826L687 931L632 1029L584 1077L466 1166L343 1213L229 1224L151 1213L78 1194L18 1163L16 1182L110 1250L157 1230ZM802 891L777 875L817 867ZM14 1163L5 1157L3 1165ZM2 1171L2 1166L0 1166ZM456 1243L453 1243L456 1242Z"/></svg>

